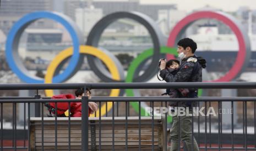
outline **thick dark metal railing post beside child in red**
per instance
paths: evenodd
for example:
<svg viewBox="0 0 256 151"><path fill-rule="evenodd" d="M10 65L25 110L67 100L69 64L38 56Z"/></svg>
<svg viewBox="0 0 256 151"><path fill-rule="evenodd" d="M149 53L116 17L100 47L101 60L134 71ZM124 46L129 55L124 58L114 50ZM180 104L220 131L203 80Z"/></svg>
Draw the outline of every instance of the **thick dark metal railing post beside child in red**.
<svg viewBox="0 0 256 151"><path fill-rule="evenodd" d="M89 129L89 119L88 119L88 96L83 96L81 103L82 103L82 117L81 117L81 130L82 130L82 150L88 150L88 129Z"/></svg>

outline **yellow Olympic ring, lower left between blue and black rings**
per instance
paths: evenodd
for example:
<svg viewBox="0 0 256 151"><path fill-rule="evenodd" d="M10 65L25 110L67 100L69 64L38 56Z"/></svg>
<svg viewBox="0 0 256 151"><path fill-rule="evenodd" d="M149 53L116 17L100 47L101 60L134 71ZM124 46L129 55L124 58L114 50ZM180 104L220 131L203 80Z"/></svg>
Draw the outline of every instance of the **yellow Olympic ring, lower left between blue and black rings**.
<svg viewBox="0 0 256 151"><path fill-rule="evenodd" d="M107 68L109 69L112 75L112 78L115 80L120 80L120 75L118 73L118 69L115 62L113 62L112 59L110 59L110 57L108 57L108 55L106 55L103 51L88 45L80 45L79 49L80 49L79 50L80 54L93 55L99 58L101 61L103 61L106 64ZM70 47L61 51L61 53L59 53L55 57L55 59L53 59L53 61L47 67L47 72L45 74L45 83L52 83L52 78L53 78L53 75L55 74L55 71L58 65L63 60L70 57L72 54L73 54L73 47ZM110 96L118 96L119 92L120 92L119 89L112 89L110 92ZM45 94L46 96L51 97L53 96L53 90L45 90ZM110 111L111 108L112 108L112 102L107 102L107 112ZM106 114L106 104L102 105L101 107L101 115L105 115L105 114ZM94 115L90 115L90 117L94 117ZM96 112L96 117L99 117L99 109Z"/></svg>

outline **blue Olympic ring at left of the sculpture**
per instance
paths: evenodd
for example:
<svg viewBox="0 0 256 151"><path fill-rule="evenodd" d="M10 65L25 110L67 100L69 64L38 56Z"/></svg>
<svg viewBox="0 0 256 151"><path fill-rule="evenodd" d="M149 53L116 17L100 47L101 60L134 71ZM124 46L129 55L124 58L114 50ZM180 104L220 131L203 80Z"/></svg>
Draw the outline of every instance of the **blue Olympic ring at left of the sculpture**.
<svg viewBox="0 0 256 151"><path fill-rule="evenodd" d="M79 45L83 44L83 39L78 35L78 27L75 23L67 18L67 16L56 12L50 11L36 11L25 15L19 21L17 21L9 32L7 43L6 43L6 59L9 67L12 71L18 75L18 77L26 83L44 83L44 80L28 74L28 70L24 67L23 63L19 59L18 55L18 43L22 32L28 27L32 22L42 19L52 19L60 24L62 24L66 30L69 32L73 41L73 55L70 57L69 65L61 73L53 77L53 83L61 83L70 77L73 71L76 69L80 59L79 55Z"/></svg>

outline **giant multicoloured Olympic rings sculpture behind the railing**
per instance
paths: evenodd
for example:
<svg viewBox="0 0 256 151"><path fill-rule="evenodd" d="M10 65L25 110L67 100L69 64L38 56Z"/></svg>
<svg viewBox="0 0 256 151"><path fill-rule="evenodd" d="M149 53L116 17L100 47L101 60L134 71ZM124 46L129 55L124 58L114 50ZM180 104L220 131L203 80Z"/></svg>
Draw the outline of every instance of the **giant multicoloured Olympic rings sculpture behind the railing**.
<svg viewBox="0 0 256 151"><path fill-rule="evenodd" d="M61 23L70 33L70 37L73 41L73 47L61 51L61 53L59 53L47 67L45 79L41 79L29 74L18 55L18 44L21 34L32 22L42 18L52 19ZM99 39L104 29L112 22L121 18L129 18L144 25L149 31L152 42L154 43L154 48L143 51L143 53L138 55L138 57L135 58L132 63L130 63L127 77L124 77L124 69L114 55L107 50L97 48ZM166 38L161 33L160 28L156 25L154 20L149 18L149 16L138 12L112 13L106 15L96 23L89 33L85 45L83 45L83 36L81 35L82 32L80 32L77 25L75 25L74 21L68 18L68 16L50 11L36 11L34 13L25 15L23 18L17 21L10 30L6 43L6 59L12 71L26 83L64 82L79 70L81 64L83 63L83 54L88 55L89 66L91 67L92 71L94 71L95 74L104 82L146 82L155 76L160 56L165 54L167 55L168 59L174 58L177 55L175 48L177 40L182 38L183 33L194 21L205 18L215 19L223 22L231 28L237 37L239 50L235 64L223 77L213 80L214 82L231 81L237 78L239 74L242 73L243 69L248 65L251 53L250 42L247 33L244 31L239 21L233 18L231 15L222 13L220 11L197 11L189 14L184 19L179 21L175 27L173 27L167 42L165 40ZM68 57L70 57L69 65L62 73L59 73L63 62L65 62ZM150 57L152 58L150 66L145 69L143 74L139 75L139 72L143 68L143 63ZM99 61L99 59L106 64L108 71L105 69L104 65L102 65L101 61ZM138 96L139 92L136 90L126 90L126 94L127 96ZM52 90L46 90L46 96L52 95ZM120 95L123 95L120 90L111 90L110 96ZM105 109L106 106L107 111ZM138 112L138 102L133 102L132 106L135 111ZM145 103L141 104L141 115L143 115L143 112L145 113L144 108L146 106L147 105ZM110 111L111 108L112 102L102 106L101 115L105 115L106 112ZM97 117L99 116L99 111L97 111L96 115Z"/></svg>

